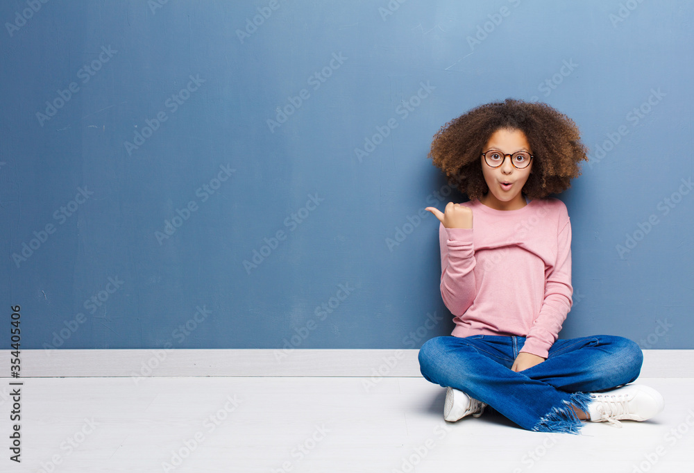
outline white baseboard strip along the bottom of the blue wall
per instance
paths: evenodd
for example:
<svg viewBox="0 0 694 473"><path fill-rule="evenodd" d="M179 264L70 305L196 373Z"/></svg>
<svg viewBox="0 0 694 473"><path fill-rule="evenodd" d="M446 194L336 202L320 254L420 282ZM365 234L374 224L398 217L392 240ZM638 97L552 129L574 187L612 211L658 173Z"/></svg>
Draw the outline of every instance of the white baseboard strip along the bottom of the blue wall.
<svg viewBox="0 0 694 473"><path fill-rule="evenodd" d="M418 377L418 349L22 350L22 378L63 376ZM10 350L0 350L9 378ZM644 378L694 377L694 350L643 350Z"/></svg>

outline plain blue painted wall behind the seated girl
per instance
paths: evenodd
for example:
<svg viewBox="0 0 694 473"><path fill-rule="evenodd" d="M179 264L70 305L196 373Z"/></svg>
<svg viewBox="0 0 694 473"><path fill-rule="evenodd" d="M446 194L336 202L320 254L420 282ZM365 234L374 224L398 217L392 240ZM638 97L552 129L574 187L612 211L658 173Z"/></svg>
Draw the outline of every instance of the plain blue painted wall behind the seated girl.
<svg viewBox="0 0 694 473"><path fill-rule="evenodd" d="M561 336L694 348L693 17L684 0L3 2L3 310L21 306L28 349L419 347L452 329L439 222L419 215L464 200L432 136L517 97L591 148L558 196Z"/></svg>

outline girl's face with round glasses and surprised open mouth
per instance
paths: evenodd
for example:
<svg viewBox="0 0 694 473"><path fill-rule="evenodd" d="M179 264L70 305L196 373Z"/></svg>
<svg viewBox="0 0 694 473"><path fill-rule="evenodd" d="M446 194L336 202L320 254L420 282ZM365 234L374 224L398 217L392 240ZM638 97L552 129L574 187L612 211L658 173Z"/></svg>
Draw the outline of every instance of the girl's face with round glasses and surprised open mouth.
<svg viewBox="0 0 694 473"><path fill-rule="evenodd" d="M490 149L496 149L505 154L513 154L516 151L527 151L532 154L525 133L508 128L500 128L492 133L482 152ZM530 176L532 160L527 167L516 169L511 164L510 156L503 158L504 161L499 167L490 167L482 156L480 159L482 160L484 181L489 187L489 192L484 194L480 202L487 207L496 208L496 210L518 210L525 207L525 199L523 199L521 190Z"/></svg>

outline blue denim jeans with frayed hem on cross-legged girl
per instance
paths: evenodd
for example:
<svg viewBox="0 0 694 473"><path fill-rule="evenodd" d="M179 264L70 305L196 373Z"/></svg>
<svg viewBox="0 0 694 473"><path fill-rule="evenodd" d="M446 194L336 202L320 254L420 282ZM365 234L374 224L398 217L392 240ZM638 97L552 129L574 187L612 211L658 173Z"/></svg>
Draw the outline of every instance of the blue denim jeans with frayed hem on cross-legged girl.
<svg viewBox="0 0 694 473"><path fill-rule="evenodd" d="M577 433L571 406L587 410L588 393L631 383L643 363L632 340L595 335L557 340L545 361L514 372L523 344L525 337L435 337L419 350L419 365L427 381L465 392L523 429Z"/></svg>

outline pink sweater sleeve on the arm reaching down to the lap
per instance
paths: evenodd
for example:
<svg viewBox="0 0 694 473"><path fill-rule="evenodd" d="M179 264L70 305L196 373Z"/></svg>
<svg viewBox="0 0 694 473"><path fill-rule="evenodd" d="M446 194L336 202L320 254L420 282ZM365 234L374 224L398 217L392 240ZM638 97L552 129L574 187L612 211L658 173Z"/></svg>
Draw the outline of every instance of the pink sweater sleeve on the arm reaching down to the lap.
<svg viewBox="0 0 694 473"><path fill-rule="evenodd" d="M557 236L557 261L546 278L545 296L521 351L547 358L552 344L557 341L561 325L573 304L571 287L571 223Z"/></svg>

